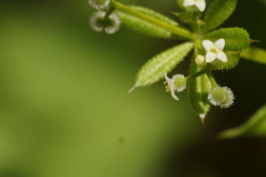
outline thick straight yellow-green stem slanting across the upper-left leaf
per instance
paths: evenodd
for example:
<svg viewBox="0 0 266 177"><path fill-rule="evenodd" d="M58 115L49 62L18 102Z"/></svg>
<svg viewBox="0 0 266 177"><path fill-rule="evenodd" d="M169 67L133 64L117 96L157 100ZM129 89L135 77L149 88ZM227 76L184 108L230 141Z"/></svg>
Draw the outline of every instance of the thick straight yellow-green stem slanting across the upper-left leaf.
<svg viewBox="0 0 266 177"><path fill-rule="evenodd" d="M190 32L188 30L185 30L183 28L179 28L177 26L170 25L169 23L163 22L163 21L158 20L156 18L153 18L151 16L147 16L143 13L140 13L138 11L133 10L132 8L130 8L128 6L125 6L119 2L116 2L115 0L111 0L111 5L120 11L124 11L127 14L133 15L137 18L140 18L144 21L147 21L147 22L149 22L149 23L151 23L157 27L160 27L162 29L165 29L169 32L173 32L173 33L175 33L179 36L182 36L186 39L194 40L194 38L195 38L195 34L193 34L192 32Z"/></svg>

